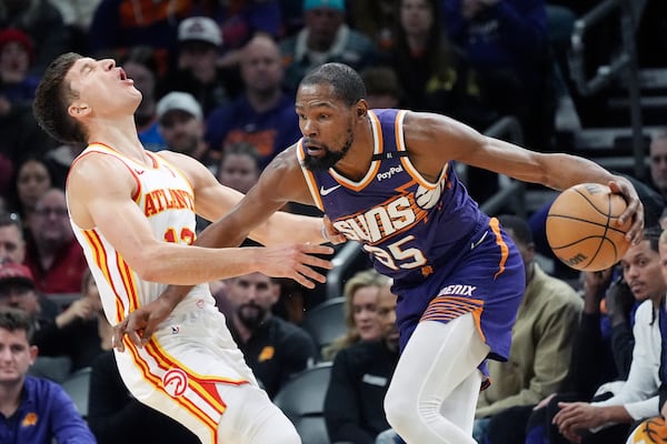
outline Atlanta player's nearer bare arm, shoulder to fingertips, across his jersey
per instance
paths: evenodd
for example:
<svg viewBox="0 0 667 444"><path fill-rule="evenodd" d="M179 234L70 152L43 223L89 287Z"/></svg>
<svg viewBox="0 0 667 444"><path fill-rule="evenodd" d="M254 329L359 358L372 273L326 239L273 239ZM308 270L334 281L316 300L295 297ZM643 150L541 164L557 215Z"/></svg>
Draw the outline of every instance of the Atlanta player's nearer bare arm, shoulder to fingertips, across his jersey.
<svg viewBox="0 0 667 444"><path fill-rule="evenodd" d="M332 253L332 249L323 245L221 250L156 239L132 200L136 186L120 161L104 154L89 154L70 172L68 203L78 226L98 228L147 281L193 285L259 271L308 283L306 281L312 279L325 279L313 268L330 268L329 261L313 255Z"/></svg>

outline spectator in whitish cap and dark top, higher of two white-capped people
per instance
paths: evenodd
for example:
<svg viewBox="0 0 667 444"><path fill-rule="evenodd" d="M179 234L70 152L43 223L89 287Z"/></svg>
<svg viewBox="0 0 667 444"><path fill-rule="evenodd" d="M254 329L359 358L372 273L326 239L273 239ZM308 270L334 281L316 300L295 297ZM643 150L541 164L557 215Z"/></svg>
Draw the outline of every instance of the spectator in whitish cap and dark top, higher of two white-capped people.
<svg viewBox="0 0 667 444"><path fill-rule="evenodd" d="M201 104L203 115L238 94L240 80L236 70L218 67L222 34L213 19L190 17L178 27L176 69L170 70L160 95L170 91L189 92Z"/></svg>

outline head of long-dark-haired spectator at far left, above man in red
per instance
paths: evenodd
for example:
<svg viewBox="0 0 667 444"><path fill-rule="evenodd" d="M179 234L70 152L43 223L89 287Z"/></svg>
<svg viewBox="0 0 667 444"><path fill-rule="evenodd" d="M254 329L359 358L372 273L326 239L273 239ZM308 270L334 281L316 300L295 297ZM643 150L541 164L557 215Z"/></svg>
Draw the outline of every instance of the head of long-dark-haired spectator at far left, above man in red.
<svg viewBox="0 0 667 444"><path fill-rule="evenodd" d="M18 165L11 183L9 208L19 214L26 223L26 228L29 229L37 201L47 190L53 186L51 171L41 158L28 155Z"/></svg>

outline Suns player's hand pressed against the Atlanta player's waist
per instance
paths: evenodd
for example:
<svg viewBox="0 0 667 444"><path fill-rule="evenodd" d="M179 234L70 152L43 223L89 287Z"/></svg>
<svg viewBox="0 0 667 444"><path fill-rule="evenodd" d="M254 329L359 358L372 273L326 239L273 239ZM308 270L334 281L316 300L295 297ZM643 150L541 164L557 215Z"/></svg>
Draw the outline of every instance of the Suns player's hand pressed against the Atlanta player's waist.
<svg viewBox="0 0 667 444"><path fill-rule="evenodd" d="M173 306L171 306L163 297L158 297L155 301L140 306L129 313L113 327L111 344L119 352L123 352L125 345L122 344L122 340L127 334L135 345L142 347L148 343L158 325L169 317L172 310Z"/></svg>

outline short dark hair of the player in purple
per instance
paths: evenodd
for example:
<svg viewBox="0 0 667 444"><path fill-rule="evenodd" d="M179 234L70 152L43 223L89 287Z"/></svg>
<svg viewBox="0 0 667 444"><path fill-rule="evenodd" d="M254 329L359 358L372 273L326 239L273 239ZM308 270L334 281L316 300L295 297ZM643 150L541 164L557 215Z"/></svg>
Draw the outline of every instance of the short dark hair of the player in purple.
<svg viewBox="0 0 667 444"><path fill-rule="evenodd" d="M366 87L357 71L345 63L325 63L310 71L300 85L330 84L334 94L348 107L366 99Z"/></svg>

